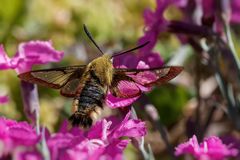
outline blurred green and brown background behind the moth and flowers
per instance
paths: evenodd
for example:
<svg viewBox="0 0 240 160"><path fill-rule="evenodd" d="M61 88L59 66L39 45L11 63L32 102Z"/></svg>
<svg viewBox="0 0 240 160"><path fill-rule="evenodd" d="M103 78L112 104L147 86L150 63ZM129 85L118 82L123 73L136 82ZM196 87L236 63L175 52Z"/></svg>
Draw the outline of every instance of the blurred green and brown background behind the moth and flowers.
<svg viewBox="0 0 240 160"><path fill-rule="evenodd" d="M154 10L155 0L0 0L0 43L10 57L15 54L19 43L29 40L51 40L57 50L65 52L61 62L35 66L34 69L86 64L99 54L86 38L83 24L88 26L103 51L113 53L137 45L145 31L143 13L146 8ZM164 14L170 19L183 16L182 11L174 6L168 7ZM238 44L240 27L238 24L231 27L234 44ZM238 45L235 47L240 51ZM196 54L196 48L183 44L178 35L169 32L158 35L154 51L160 53L165 63L185 68L177 79L154 88L134 105L139 118L147 123L145 143L151 145L156 159L168 159L169 154L158 127L142 112L142 101L156 107L160 116L158 125L167 131L172 146L196 132L202 137L233 135L239 138L240 127L228 114L229 103L208 64L211 58L207 54ZM232 76L228 71L225 73L226 77ZM0 71L0 94L9 95L10 99L1 106L1 115L27 120L15 71ZM71 114L72 100L60 96L56 90L40 86L39 97L41 125L54 132ZM237 117L240 119L239 115ZM201 126L200 131L196 129L198 126ZM132 145L125 151L128 159L133 160L141 159L138 153Z"/></svg>

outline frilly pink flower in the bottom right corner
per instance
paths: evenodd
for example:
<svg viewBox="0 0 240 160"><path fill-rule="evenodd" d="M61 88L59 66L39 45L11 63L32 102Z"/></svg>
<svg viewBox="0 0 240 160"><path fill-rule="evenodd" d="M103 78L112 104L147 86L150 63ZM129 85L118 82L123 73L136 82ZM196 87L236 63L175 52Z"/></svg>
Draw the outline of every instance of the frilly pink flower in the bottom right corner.
<svg viewBox="0 0 240 160"><path fill-rule="evenodd" d="M204 139L199 145L194 135L188 142L178 145L175 155L191 154L198 160L223 160L227 157L235 157L238 150L222 143L221 139L215 136Z"/></svg>

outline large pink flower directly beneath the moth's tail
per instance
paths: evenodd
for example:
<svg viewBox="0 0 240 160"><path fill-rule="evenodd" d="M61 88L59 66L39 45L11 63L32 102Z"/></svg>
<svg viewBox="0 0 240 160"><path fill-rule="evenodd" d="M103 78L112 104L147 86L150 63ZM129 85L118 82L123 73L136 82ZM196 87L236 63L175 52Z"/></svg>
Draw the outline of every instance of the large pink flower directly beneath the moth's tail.
<svg viewBox="0 0 240 160"><path fill-rule="evenodd" d="M61 160L77 159L123 159L123 150L130 142L127 137L141 137L146 134L144 122L130 118L130 112L123 120L101 120L86 132L73 129L57 133L47 140L51 158ZM124 139L122 139L125 137Z"/></svg>

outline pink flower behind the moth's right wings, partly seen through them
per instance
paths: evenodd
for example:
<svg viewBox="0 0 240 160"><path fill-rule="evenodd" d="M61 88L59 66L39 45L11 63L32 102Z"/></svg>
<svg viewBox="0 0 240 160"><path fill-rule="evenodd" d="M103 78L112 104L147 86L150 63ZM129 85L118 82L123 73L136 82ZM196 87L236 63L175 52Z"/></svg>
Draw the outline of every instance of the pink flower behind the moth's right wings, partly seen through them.
<svg viewBox="0 0 240 160"><path fill-rule="evenodd" d="M131 59L129 59L129 60L131 60ZM134 58L133 58L133 60L134 60ZM127 61L125 61L125 62L127 62ZM126 64L129 65L131 63L126 63ZM126 66L121 66L120 68L126 68ZM147 65L144 61L139 61L136 68L137 69L149 68L149 65ZM120 82L120 84L119 84L120 91L124 92L125 94L129 94L129 95L138 93L139 90L141 92L150 91L151 87L145 87L144 84L156 80L156 76L152 72L143 72L143 73L141 72L137 75L129 75L129 77L131 77L136 83L122 81L122 83ZM139 97L140 97L140 95L132 97L132 98L119 98L119 97L113 96L109 92L106 97L106 103L111 108L125 107L125 106L131 105Z"/></svg>

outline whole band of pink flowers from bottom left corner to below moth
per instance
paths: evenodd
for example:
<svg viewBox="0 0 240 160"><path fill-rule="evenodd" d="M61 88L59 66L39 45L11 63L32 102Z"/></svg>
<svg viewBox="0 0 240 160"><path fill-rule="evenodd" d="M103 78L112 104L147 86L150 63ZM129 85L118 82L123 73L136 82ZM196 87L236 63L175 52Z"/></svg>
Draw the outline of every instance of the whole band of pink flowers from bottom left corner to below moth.
<svg viewBox="0 0 240 160"><path fill-rule="evenodd" d="M41 137L28 123L0 118L0 127L1 158L42 159L37 149ZM85 132L79 128L69 131L64 124L60 132L46 136L46 142L52 160L121 160L123 150L131 141L129 138L145 134L144 122L130 119L129 112L124 119L98 121Z"/></svg>

